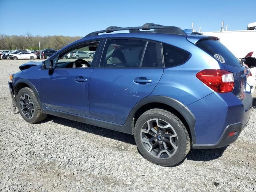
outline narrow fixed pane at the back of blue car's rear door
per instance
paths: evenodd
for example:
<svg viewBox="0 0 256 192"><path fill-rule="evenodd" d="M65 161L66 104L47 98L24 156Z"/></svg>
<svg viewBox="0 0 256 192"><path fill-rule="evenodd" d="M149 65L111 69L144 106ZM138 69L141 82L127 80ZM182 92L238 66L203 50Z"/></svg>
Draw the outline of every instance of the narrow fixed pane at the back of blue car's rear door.
<svg viewBox="0 0 256 192"><path fill-rule="evenodd" d="M142 67L159 67L160 66L156 43L148 42L141 66Z"/></svg>

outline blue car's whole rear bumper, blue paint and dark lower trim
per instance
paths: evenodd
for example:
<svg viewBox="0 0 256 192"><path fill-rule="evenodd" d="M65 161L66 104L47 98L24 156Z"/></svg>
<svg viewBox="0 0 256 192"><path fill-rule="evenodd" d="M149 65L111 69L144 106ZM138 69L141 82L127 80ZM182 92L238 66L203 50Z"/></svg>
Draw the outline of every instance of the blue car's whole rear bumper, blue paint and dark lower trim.
<svg viewBox="0 0 256 192"><path fill-rule="evenodd" d="M252 96L245 92L243 100L233 93L212 93L187 108L196 118L193 148L220 148L234 142L249 121ZM234 136L227 135L237 129Z"/></svg>

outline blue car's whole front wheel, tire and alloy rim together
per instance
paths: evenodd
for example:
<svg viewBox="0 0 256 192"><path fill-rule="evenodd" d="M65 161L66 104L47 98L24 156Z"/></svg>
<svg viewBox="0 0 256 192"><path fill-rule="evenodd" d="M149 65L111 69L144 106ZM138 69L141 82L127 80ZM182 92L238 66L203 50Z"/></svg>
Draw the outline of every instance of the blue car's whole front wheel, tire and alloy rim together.
<svg viewBox="0 0 256 192"><path fill-rule="evenodd" d="M20 115L26 122L34 124L42 120L45 120L45 118L47 117L47 114L42 112L42 109L38 103L38 100L36 99L33 90L28 87L22 88L18 92L17 105ZM26 110L28 108L32 110Z"/></svg>

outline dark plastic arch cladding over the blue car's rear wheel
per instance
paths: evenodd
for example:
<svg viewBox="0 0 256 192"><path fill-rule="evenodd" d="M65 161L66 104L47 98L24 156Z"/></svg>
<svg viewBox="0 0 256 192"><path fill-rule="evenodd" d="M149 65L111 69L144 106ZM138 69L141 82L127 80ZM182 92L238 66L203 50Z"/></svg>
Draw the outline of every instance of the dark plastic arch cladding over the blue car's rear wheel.
<svg viewBox="0 0 256 192"><path fill-rule="evenodd" d="M138 117L147 110L150 110L152 108L165 109L176 115L187 128L190 134L190 138L192 140L192 144L196 144L196 118L192 114L192 112L186 106L184 106L184 104L180 103L179 101L173 98L169 98L166 96L148 96L142 99L140 102L136 104L136 106L134 106L134 108L132 109L127 118L126 123L132 124L132 128L134 129L134 125Z"/></svg>

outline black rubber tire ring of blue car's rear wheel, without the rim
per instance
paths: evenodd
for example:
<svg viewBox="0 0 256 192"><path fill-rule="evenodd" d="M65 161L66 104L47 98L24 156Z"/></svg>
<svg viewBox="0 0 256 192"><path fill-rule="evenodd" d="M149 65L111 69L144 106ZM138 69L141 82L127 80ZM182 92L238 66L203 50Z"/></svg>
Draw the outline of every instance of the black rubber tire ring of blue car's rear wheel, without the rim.
<svg viewBox="0 0 256 192"><path fill-rule="evenodd" d="M170 158L157 158L150 154L143 146L141 141L141 128L144 125L144 123L150 119L153 118L159 118L166 122L168 122L176 131L177 137L178 137L178 149L175 152L174 155L172 155ZM139 151L142 153L142 155L148 159L150 162L153 162L155 164L159 164L162 166L173 166L175 164L178 164L180 161L183 160L184 154L186 154L186 136L184 133L184 130L182 130L182 126L173 118L172 116L166 116L159 113L150 113L143 115L137 120L135 124L135 132L134 132L134 138L136 145L138 146Z"/></svg>

